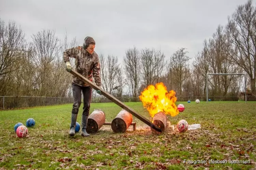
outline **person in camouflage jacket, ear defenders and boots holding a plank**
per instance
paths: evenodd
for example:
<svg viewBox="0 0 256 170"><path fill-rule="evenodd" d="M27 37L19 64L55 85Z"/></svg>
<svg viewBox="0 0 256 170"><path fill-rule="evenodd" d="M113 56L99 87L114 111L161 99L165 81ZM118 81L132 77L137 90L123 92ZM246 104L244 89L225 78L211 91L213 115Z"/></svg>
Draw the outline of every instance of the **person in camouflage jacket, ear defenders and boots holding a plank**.
<svg viewBox="0 0 256 170"><path fill-rule="evenodd" d="M95 80L95 84L101 87L101 78L100 78L100 61L98 54L94 51L95 48L95 40L92 37L86 37L84 39L83 46L78 46L74 48L67 49L63 52L63 59L66 63L66 70L68 72L71 71L71 65L69 61L69 57L75 58L75 69L78 73L82 74L85 78L93 81ZM76 78L73 75L72 80L72 90L73 90L73 108L71 114L71 124L69 135L75 135L75 125L77 114L79 111L79 107L81 105L81 91L83 92L84 99L84 107L83 107L83 115L82 115L82 136L89 136L86 132L86 126L90 111L90 101L92 96L92 88L87 84L82 82L80 79ZM101 91L97 90L97 93L101 95Z"/></svg>

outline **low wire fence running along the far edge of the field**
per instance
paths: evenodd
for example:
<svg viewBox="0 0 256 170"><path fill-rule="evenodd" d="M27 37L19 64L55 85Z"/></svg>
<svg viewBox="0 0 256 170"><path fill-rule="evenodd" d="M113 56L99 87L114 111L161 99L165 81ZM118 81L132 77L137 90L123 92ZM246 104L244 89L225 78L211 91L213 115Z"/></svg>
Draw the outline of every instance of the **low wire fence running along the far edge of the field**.
<svg viewBox="0 0 256 170"><path fill-rule="evenodd" d="M211 101L244 101L244 96L209 96ZM117 97L121 102L140 102L139 97ZM206 101L206 96L194 97L177 97L177 101L191 102L199 99ZM247 101L256 101L256 96L247 96ZM83 101L82 101L83 102ZM108 98L92 97L91 103L108 103L112 102ZM47 106L73 103L73 98L61 97L34 97L34 96L0 96L0 109L27 108L34 106Z"/></svg>

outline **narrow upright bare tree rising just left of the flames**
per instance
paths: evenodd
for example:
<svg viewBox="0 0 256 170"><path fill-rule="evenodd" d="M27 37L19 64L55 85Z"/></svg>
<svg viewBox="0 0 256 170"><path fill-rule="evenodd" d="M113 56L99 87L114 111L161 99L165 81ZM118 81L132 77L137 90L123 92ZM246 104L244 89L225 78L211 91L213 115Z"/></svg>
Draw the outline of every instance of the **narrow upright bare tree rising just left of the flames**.
<svg viewBox="0 0 256 170"><path fill-rule="evenodd" d="M132 97L137 97L140 87L140 53L136 47L126 51L124 66L127 84L130 87Z"/></svg>

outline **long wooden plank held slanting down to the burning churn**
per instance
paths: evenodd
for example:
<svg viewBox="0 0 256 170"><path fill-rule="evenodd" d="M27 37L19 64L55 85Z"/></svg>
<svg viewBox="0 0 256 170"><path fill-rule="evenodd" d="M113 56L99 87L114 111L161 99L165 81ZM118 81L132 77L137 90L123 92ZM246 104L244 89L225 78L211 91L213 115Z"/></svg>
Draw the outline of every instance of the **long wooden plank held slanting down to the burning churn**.
<svg viewBox="0 0 256 170"><path fill-rule="evenodd" d="M147 124L148 126L150 126L151 128L153 128L154 130L158 131L158 132L162 132L162 130L160 128L158 128L158 126L156 126L154 123L152 123L151 121L149 121L148 119L146 119L145 117L141 116L140 114L138 114L137 112L135 112L132 108L126 106L123 102L119 101L118 99L116 99L114 96L110 95L108 92L104 91L103 89L101 89L99 86L97 86L96 84L94 84L93 82L89 81L88 79L86 79L83 75L81 75L80 73L76 72L75 70L71 70L70 72L71 74L73 74L75 77L79 78L80 80L82 80L83 82L87 83L89 86L91 86L92 88L94 88L95 90L100 90L101 94L103 96L105 96L106 98L108 98L109 100L113 101L115 104L117 104L118 106L122 107L123 109L125 109L127 112L129 112L130 114L132 114L133 116L137 117L139 120L141 120L142 122L144 122L145 124Z"/></svg>

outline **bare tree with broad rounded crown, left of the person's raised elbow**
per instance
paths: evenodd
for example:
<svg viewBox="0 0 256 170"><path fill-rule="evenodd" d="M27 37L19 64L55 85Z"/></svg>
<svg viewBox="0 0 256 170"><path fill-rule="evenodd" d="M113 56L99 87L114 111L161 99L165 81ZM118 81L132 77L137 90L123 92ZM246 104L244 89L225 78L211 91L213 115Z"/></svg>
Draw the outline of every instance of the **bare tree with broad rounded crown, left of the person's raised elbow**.
<svg viewBox="0 0 256 170"><path fill-rule="evenodd" d="M32 39L33 60L39 76L38 96L55 96L52 92L57 87L59 77L54 76L54 60L60 50L59 39L51 30L39 31L32 35Z"/></svg>

